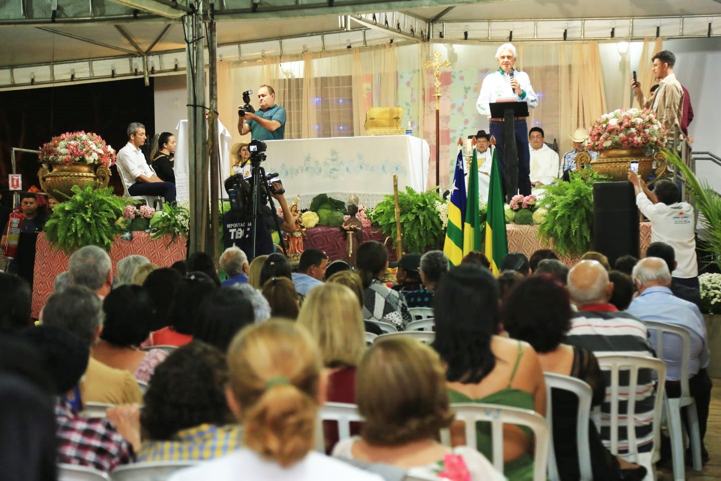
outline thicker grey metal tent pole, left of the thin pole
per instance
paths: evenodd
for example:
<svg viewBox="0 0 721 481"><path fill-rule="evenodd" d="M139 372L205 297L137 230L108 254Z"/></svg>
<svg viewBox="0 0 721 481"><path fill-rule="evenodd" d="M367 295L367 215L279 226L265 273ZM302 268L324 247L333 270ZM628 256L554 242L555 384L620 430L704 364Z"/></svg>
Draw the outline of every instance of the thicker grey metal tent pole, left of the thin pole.
<svg viewBox="0 0 721 481"><path fill-rule="evenodd" d="M205 61L203 58L203 2L184 17L187 43L187 140L190 172L190 245L188 254L205 252L208 229L208 159L205 155Z"/></svg>

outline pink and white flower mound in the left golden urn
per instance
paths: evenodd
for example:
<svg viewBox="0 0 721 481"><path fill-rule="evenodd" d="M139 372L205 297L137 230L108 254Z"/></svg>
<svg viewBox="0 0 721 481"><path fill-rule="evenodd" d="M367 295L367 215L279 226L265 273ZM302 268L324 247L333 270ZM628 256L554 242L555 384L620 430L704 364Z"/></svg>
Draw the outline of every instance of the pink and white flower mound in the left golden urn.
<svg viewBox="0 0 721 481"><path fill-rule="evenodd" d="M110 167L115 164L115 150L105 144L97 133L66 132L43 144L38 158L43 164L79 163Z"/></svg>

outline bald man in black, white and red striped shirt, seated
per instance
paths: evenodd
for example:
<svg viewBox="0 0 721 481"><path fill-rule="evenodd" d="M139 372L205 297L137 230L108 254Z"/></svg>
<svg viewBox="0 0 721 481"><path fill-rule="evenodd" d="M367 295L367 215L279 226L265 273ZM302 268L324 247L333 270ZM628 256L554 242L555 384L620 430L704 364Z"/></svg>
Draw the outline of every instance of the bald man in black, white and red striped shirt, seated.
<svg viewBox="0 0 721 481"><path fill-rule="evenodd" d="M648 343L645 325L640 319L619 312L609 303L614 292L614 283L609 281L609 273L597 260L582 260L568 273L568 292L578 307L573 314L567 343L586 348L596 354L634 354L653 357ZM606 386L610 385L608 371L603 371ZM636 439L638 450L648 452L653 449L653 403L655 394L648 371L639 373L639 390L636 402ZM606 395L601 412L602 425L608 426L610 412L610 394ZM623 408L625 409L625 407ZM623 414L624 412L621 412ZM601 429L603 444L610 448L608 428ZM619 452L628 449L628 439L619 438Z"/></svg>

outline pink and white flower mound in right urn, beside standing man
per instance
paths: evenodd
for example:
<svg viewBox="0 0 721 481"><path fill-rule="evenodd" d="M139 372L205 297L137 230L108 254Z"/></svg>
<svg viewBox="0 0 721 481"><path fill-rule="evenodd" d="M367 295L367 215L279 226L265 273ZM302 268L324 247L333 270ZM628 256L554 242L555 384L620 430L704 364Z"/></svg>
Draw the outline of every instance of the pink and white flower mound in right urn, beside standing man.
<svg viewBox="0 0 721 481"><path fill-rule="evenodd" d="M586 148L634 149L650 147L660 149L666 145L666 129L653 110L618 109L601 115L588 131Z"/></svg>

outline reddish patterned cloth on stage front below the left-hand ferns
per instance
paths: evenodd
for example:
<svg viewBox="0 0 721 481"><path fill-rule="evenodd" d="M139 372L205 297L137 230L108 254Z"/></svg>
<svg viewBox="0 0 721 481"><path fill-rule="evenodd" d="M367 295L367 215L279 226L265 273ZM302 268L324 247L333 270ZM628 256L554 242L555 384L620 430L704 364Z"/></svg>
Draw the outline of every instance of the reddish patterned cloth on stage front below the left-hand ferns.
<svg viewBox="0 0 721 481"><path fill-rule="evenodd" d="M168 244L172 238L165 234L157 240L150 239L151 234L143 231L133 232L133 240L125 241L116 237L110 248L110 260L112 260L112 273L118 275L115 265L118 260L128 255L137 254L148 257L150 262L165 268L170 267L173 262L185 259L185 237L176 237L174 242ZM45 239L45 233L37 234L35 242L35 278L32 283L32 317L40 315L40 309L45 306L50 294L53 294L53 283L56 276L68 270L68 258L62 250L53 252L52 247Z"/></svg>

